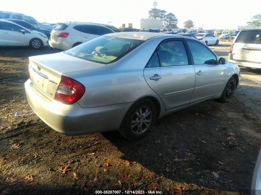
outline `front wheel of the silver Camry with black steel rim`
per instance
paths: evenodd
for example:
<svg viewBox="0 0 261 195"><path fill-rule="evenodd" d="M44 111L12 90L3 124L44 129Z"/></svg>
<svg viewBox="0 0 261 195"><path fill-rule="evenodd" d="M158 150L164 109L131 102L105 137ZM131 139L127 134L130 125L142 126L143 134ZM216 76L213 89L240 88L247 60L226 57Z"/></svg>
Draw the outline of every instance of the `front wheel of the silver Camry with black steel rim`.
<svg viewBox="0 0 261 195"><path fill-rule="evenodd" d="M216 100L219 101L219 102L222 102L222 103L229 102L234 95L234 92L236 90L236 86L237 86L236 79L232 76L228 80L226 87L224 88L224 90L222 92L221 97L216 99Z"/></svg>

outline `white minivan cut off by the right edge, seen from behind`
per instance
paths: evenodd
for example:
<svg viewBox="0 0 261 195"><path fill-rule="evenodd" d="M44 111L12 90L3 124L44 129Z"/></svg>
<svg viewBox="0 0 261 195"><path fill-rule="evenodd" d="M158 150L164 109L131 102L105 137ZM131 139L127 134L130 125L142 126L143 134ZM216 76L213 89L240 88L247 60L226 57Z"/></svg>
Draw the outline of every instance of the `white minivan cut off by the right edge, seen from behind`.
<svg viewBox="0 0 261 195"><path fill-rule="evenodd" d="M231 44L228 61L238 66L261 68L261 28L241 30Z"/></svg>

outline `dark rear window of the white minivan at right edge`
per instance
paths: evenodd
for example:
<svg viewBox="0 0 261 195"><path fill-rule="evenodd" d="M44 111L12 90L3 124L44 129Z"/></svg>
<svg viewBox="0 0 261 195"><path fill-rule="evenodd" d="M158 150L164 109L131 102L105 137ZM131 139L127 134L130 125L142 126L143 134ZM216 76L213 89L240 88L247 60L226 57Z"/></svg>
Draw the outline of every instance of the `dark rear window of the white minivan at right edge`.
<svg viewBox="0 0 261 195"><path fill-rule="evenodd" d="M241 31L235 43L261 44L261 30Z"/></svg>

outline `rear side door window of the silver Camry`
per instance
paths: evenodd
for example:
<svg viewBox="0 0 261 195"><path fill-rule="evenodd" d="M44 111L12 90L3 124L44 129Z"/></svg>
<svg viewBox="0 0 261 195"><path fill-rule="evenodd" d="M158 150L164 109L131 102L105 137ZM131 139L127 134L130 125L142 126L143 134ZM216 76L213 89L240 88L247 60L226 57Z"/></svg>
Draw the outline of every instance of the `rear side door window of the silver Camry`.
<svg viewBox="0 0 261 195"><path fill-rule="evenodd" d="M188 65L187 53L183 41L168 41L158 49L160 66Z"/></svg>

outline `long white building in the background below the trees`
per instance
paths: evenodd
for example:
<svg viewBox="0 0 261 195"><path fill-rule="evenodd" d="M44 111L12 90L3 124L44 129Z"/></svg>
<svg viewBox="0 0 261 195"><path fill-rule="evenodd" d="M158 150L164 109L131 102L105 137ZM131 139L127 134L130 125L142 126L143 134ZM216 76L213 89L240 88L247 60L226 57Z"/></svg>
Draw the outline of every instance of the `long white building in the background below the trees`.
<svg viewBox="0 0 261 195"><path fill-rule="evenodd" d="M125 21L125 22L110 22L110 25L116 27L131 27L137 29L146 29L146 28L162 28L162 20L157 20L154 18L142 18L134 21Z"/></svg>

